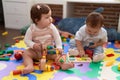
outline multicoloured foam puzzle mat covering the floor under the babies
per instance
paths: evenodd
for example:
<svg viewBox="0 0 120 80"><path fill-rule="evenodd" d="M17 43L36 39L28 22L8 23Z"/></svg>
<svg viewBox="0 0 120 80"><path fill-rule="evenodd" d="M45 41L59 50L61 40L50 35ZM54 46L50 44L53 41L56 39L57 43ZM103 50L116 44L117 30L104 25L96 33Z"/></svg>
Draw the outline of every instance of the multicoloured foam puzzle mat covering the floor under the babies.
<svg viewBox="0 0 120 80"><path fill-rule="evenodd" d="M64 43L64 51L68 50L68 43ZM23 40L6 50L24 50L26 45ZM37 65L34 65L34 72L26 75L13 75L12 71L23 69L22 60L16 61L14 56L9 61L0 61L0 80L120 80L120 48L113 43L104 46L106 55L102 62L77 62L75 67L69 70L54 70L40 72Z"/></svg>

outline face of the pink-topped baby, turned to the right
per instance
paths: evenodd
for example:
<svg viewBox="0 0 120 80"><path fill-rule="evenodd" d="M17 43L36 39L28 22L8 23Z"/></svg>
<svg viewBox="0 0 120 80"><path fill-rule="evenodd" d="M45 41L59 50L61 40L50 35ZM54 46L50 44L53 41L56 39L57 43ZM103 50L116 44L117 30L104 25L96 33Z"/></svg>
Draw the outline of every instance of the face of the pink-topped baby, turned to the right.
<svg viewBox="0 0 120 80"><path fill-rule="evenodd" d="M37 26L39 28L48 27L52 23L51 10L48 14L42 14L41 19L37 21Z"/></svg>

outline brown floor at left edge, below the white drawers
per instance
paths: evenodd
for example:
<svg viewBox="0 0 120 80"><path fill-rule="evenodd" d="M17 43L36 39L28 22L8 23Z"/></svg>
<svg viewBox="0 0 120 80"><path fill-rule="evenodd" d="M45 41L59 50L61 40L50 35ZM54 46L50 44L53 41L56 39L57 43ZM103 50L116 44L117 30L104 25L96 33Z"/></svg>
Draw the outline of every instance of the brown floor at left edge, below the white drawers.
<svg viewBox="0 0 120 80"><path fill-rule="evenodd" d="M8 32L8 34L2 35L4 32ZM0 25L0 48L5 49L5 44L13 45L15 43L13 38L20 35L20 30L5 29L3 25Z"/></svg>

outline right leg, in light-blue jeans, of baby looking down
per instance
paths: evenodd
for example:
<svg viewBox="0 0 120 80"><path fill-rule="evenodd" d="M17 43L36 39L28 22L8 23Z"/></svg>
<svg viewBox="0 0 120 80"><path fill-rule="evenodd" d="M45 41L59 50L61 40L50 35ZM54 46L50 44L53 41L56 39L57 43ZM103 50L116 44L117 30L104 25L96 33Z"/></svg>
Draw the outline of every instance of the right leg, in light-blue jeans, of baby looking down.
<svg viewBox="0 0 120 80"><path fill-rule="evenodd" d="M94 54L93 54L93 62L99 62L103 60L104 57L105 55L104 55L102 46L98 46L97 48L95 48Z"/></svg>

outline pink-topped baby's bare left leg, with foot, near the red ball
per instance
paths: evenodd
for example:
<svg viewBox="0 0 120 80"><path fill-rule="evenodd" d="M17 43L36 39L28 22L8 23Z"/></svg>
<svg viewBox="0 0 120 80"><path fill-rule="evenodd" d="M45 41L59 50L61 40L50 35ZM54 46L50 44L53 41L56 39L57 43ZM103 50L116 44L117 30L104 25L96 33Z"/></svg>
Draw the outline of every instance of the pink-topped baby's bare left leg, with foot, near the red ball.
<svg viewBox="0 0 120 80"><path fill-rule="evenodd" d="M24 51L22 56L25 65L22 74L27 74L34 71L33 59L38 58L37 53L35 53L32 49L27 49Z"/></svg>

